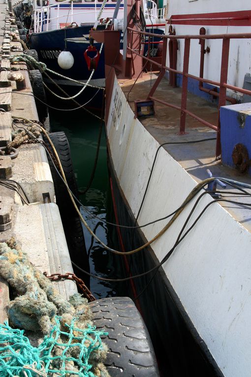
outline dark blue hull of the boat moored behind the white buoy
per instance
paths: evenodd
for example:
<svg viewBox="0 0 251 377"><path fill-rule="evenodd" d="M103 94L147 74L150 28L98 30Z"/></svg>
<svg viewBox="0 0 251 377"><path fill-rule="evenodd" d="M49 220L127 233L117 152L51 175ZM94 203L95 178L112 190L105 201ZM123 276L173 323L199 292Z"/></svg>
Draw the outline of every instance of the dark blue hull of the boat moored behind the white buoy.
<svg viewBox="0 0 251 377"><path fill-rule="evenodd" d="M40 33L32 33L28 42L29 48L35 49L38 53L38 59L40 62L46 64L47 68L53 70L54 72L58 72L63 76L67 76L73 78L78 81L86 82L91 74L91 71L87 67L87 62L84 57L84 52L90 45L89 41L89 32L92 29L93 24L80 26L77 28L64 28L64 29L57 29L52 31L45 31ZM152 29L151 29L152 30ZM162 30L154 29L155 33L163 34ZM83 35L85 36L86 40L83 40ZM69 41L67 39L75 39L75 42ZM79 39L81 38L81 39ZM71 52L74 58L74 64L71 69L62 69L58 65L58 56L65 49L65 39L66 39L66 48L68 51ZM79 40L78 40L79 39ZM154 38L155 42L158 42L161 38ZM148 39L146 39L146 42ZM84 42L84 43L83 43ZM153 41L152 41L153 42ZM99 51L101 47L101 43L94 43L94 46ZM157 43L153 44L151 49L156 49L157 51ZM105 46L104 46L105 48ZM105 86L105 62L104 62L104 48L100 53L99 62L97 67L94 71L92 76L92 80L90 81L91 85L94 86ZM121 43L121 48L123 48L123 44ZM148 51L148 44L144 46L144 54L147 55ZM154 51L154 50L153 50ZM156 52L154 52L155 54ZM93 56L95 53L93 53ZM89 53L89 56L90 53ZM92 57L92 56L91 56ZM63 77L59 77L55 74L51 74L50 76L52 79L60 85L63 90L70 96L75 95L80 89L81 84L76 84L72 81L64 79ZM48 81L48 78L44 77L46 84L56 93L62 97L65 97L62 92L52 84L52 82ZM93 108L100 108L102 105L102 90L99 90L98 93L96 88L86 88L84 92L76 98L76 101L81 105L87 103L87 107ZM94 97L94 98L93 98ZM93 98L93 100L92 100ZM54 100L56 97L54 97ZM91 101L90 101L91 100ZM62 103L63 102L63 103ZM61 106L63 104L68 107L76 107L76 103L72 103L72 101L61 101Z"/></svg>

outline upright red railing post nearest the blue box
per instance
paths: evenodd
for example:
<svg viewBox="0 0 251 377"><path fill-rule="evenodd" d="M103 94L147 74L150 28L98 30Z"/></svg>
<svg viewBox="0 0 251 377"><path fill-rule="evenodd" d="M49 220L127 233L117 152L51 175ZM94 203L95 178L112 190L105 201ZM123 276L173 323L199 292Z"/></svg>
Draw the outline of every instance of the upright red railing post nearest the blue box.
<svg viewBox="0 0 251 377"><path fill-rule="evenodd" d="M220 152L221 152L220 106L225 106L226 104L226 87L224 86L224 84L227 83L229 45L230 45L230 39L227 37L223 37L222 52L221 52L221 68L220 68L220 96L219 96L219 105L218 105L218 132L217 132L217 140L216 140L216 157L220 156Z"/></svg>

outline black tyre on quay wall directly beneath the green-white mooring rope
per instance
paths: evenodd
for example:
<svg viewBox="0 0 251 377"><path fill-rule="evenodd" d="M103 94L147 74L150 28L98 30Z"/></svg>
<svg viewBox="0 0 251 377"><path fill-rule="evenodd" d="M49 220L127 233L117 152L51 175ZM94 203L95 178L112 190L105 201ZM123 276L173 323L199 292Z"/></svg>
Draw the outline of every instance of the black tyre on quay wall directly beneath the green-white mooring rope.
<svg viewBox="0 0 251 377"><path fill-rule="evenodd" d="M43 86L43 78L39 69L29 71L31 87L35 97L35 103L40 122L43 122L48 116L48 106Z"/></svg>

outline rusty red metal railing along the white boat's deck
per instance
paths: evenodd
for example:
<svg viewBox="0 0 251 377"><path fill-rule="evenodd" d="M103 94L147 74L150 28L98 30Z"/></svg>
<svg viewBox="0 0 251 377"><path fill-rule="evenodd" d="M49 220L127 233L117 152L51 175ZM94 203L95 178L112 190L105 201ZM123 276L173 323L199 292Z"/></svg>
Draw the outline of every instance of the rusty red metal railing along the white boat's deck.
<svg viewBox="0 0 251 377"><path fill-rule="evenodd" d="M193 78L195 80L199 81L199 88L202 91L205 91L207 93L210 93L210 89L203 88L203 82L206 82L211 85L216 85L220 88L219 93L214 92L210 94L214 94L215 96L219 97L219 105L218 105L218 111L220 110L220 106L224 106L226 104L226 101L229 101L231 103L236 103L235 99L232 99L230 97L227 97L226 95L226 90L231 89L233 91L247 94L251 96L251 91L246 90L243 88L239 88L233 85L228 85L227 84L227 71L228 71L228 59L229 59L229 44L230 44L230 39L247 39L251 38L251 33L246 33L246 34L199 34L199 35L162 35L162 34L154 34L154 33L146 33L146 32L141 32L137 31L135 29L127 28L129 33L131 33L131 40L133 38L133 33L138 33L142 35L148 35L149 38L151 37L157 37L157 38L162 38L163 39L163 44L162 44L162 59L161 63L157 63L153 59L140 54L140 47L138 49L138 52L129 46L127 46L127 49L131 51L131 54L136 54L140 56L142 59L149 61L153 63L155 66L157 66L160 69L159 75L157 77L157 80L155 84L153 85L152 89L150 90L147 98L151 99L153 101L165 104L166 106L173 107L177 110L181 111L181 116L180 116L180 134L185 134L186 130L186 115L188 114L192 118L198 120L200 123L204 124L205 126L217 131L217 143L216 143L216 156L220 155L220 116L218 115L218 125L211 124L207 122L206 120L200 118L196 114L192 113L191 111L187 110L187 93L188 93L188 77ZM141 38L139 38L140 40ZM177 69L172 69L170 67L166 67L166 52L167 52L167 41L169 40L174 40L174 39L185 39L185 48L184 48L184 59L183 59L183 71L179 71ZM188 73L188 65L189 65L189 53L190 53L190 40L191 39L199 39L199 41L202 41L202 46L201 46L201 59L200 59L200 76L194 76L192 74ZM222 39L222 50L221 50L221 68L220 68L220 81L213 81L213 80L208 80L203 77L203 68L204 68L204 48L205 41L206 39ZM141 43L141 41L140 41ZM153 41L153 43L156 43ZM202 58L203 54L203 58ZM202 67L203 65L203 67ZM182 97L181 97L181 105L178 106L176 104L172 103L167 103L165 101L159 100L156 97L153 97L161 79L163 78L165 72L174 72L174 73L179 73L183 76L183 81L182 81ZM212 92L212 91L211 91Z"/></svg>

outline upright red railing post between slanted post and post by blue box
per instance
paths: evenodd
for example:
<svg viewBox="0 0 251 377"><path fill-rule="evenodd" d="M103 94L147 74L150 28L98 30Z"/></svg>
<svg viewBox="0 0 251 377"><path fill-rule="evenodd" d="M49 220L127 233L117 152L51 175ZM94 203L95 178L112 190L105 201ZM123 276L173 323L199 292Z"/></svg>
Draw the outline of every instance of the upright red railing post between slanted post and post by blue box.
<svg viewBox="0 0 251 377"><path fill-rule="evenodd" d="M183 73L182 73L182 95L181 95L181 118L180 118L180 135L185 134L186 128L186 112L187 109L187 97L188 97L188 66L189 66L189 53L190 53L190 39L185 39L184 48L184 61L183 61Z"/></svg>

